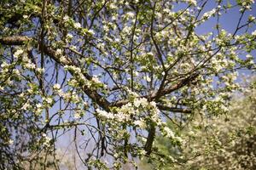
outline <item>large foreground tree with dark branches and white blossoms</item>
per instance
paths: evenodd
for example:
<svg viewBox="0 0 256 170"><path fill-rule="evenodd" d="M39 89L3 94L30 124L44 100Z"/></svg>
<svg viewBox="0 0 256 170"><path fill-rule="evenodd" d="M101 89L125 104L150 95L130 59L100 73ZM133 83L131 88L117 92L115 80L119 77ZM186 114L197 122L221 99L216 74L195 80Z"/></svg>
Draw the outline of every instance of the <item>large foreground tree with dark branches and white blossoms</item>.
<svg viewBox="0 0 256 170"><path fill-rule="evenodd" d="M237 71L255 69L253 0L0 4L3 168L32 168L42 153L58 168L67 132L88 168L118 169L138 156L179 163L160 154L155 133L183 144L166 120L226 113ZM227 31L220 19L232 10L240 14ZM212 31L200 33L207 23Z"/></svg>

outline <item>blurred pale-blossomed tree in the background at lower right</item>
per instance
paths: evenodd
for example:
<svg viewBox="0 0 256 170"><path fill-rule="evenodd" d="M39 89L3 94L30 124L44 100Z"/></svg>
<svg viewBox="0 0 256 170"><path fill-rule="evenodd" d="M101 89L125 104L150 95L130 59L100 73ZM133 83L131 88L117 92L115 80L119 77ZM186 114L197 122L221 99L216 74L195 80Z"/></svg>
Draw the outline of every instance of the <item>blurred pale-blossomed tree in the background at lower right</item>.
<svg viewBox="0 0 256 170"><path fill-rule="evenodd" d="M174 148L162 136L156 145L166 156L179 156L180 164L163 164L161 169L255 169L255 83L247 86L242 94L234 94L230 111L221 116L200 117L197 122L179 128L183 146ZM142 161L142 169L161 166L158 161Z"/></svg>

